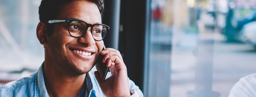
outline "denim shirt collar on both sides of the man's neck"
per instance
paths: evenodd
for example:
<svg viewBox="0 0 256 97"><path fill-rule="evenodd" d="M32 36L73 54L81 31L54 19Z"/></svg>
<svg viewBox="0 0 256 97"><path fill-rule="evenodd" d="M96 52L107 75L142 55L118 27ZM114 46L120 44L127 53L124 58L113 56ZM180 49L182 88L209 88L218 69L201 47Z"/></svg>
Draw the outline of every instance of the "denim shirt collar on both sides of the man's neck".
<svg viewBox="0 0 256 97"><path fill-rule="evenodd" d="M45 81L44 81L44 75L43 75L44 64L45 62L43 62L43 64L39 67L39 70L37 71L37 74L36 74L36 86L38 86L38 88L35 88L35 91L37 91L36 89L38 89L37 92L39 93L39 97L49 97L45 87ZM94 89L90 75L91 75L90 72L88 72L85 77L86 86L85 86L84 92L86 92L85 94L87 95L87 97L91 94L92 90Z"/></svg>

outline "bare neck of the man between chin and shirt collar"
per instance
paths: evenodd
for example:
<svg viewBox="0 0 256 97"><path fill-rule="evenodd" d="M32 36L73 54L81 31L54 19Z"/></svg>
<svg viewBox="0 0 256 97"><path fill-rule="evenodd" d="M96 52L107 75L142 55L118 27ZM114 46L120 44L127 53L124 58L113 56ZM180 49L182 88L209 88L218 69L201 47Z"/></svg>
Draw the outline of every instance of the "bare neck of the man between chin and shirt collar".
<svg viewBox="0 0 256 97"><path fill-rule="evenodd" d="M77 97L85 85L86 74L70 76L49 57L45 57L43 74L49 97Z"/></svg>

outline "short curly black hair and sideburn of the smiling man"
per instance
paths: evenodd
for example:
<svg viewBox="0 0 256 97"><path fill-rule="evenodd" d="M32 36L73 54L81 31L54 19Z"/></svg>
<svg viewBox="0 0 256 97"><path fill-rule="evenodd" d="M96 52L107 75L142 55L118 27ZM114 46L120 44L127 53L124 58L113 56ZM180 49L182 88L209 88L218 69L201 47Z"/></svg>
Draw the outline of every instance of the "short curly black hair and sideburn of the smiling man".
<svg viewBox="0 0 256 97"><path fill-rule="evenodd" d="M39 20L42 22L46 22L48 20L53 20L57 16L58 8L61 5L66 3L74 2L78 0L42 0L39 6ZM84 0L89 1L97 5L100 14L102 15L104 11L104 0ZM53 26L51 24L46 23L47 34L50 36L52 34Z"/></svg>

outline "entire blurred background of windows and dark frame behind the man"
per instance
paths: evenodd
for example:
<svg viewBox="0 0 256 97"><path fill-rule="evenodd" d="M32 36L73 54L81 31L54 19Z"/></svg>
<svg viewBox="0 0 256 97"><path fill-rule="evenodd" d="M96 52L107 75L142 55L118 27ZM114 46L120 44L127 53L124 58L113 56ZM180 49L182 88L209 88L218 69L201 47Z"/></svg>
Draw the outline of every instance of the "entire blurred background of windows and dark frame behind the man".
<svg viewBox="0 0 256 97"><path fill-rule="evenodd" d="M40 3L0 0L0 86L44 61ZM256 73L256 0L110 0L105 7L105 45L121 52L145 97L227 97Z"/></svg>

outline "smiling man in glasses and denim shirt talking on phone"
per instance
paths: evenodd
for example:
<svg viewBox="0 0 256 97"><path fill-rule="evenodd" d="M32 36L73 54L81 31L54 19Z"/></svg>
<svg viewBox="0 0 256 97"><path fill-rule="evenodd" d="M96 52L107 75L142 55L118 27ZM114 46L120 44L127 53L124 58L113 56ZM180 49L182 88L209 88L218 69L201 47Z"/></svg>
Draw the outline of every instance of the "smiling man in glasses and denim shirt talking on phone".
<svg viewBox="0 0 256 97"><path fill-rule="evenodd" d="M103 0L42 0L36 34L45 61L31 76L1 86L0 96L143 97L128 79L120 52L101 51L109 28L101 24L103 9ZM99 54L111 71L105 81L92 69Z"/></svg>

